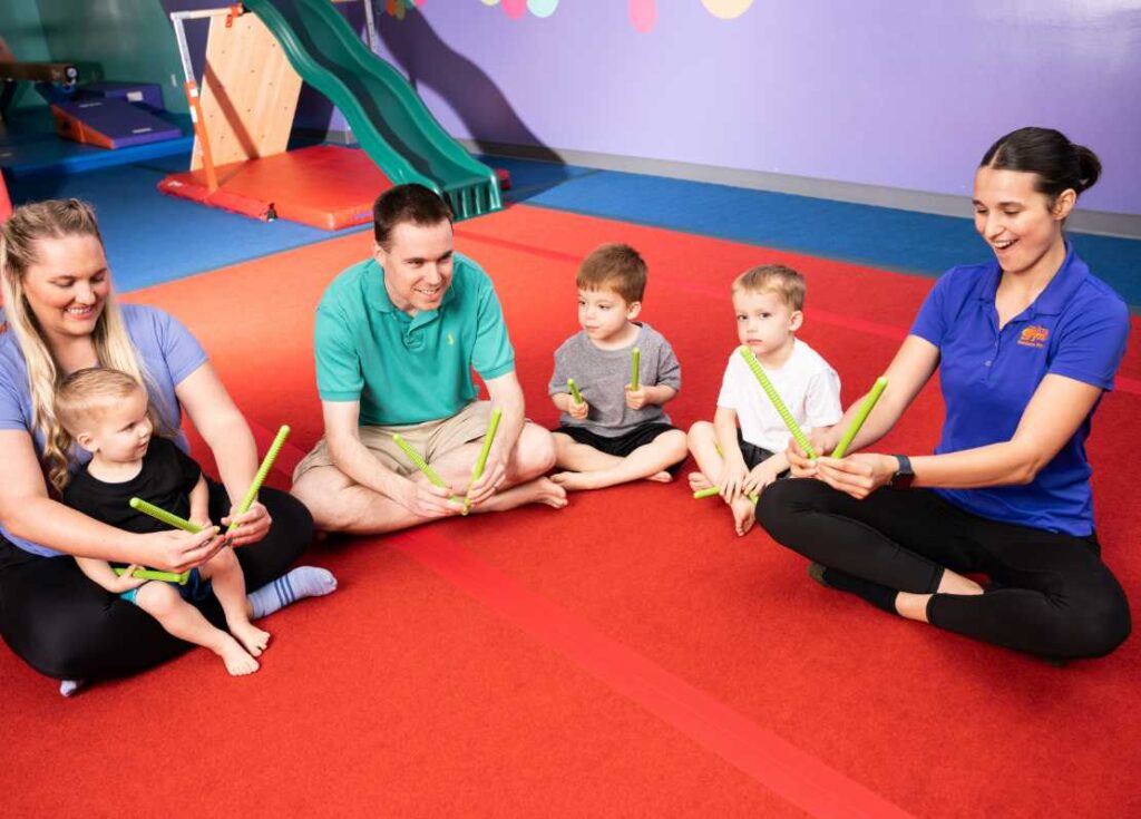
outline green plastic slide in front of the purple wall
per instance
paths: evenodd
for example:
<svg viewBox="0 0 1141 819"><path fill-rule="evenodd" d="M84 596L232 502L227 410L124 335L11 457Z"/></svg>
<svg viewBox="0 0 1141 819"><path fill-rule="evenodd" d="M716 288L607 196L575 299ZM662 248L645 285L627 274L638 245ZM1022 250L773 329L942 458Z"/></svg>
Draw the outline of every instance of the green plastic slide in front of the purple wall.
<svg viewBox="0 0 1141 819"><path fill-rule="evenodd" d="M361 147L393 183L445 196L455 218L502 209L499 180L436 121L407 80L364 44L329 0L243 0L301 79L345 115Z"/></svg>

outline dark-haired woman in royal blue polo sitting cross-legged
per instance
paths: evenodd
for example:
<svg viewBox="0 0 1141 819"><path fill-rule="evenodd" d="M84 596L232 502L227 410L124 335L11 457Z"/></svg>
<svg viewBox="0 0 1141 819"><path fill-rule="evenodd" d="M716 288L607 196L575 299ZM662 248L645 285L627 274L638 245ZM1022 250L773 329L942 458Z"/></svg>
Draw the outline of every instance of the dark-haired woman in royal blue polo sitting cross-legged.
<svg viewBox="0 0 1141 819"><path fill-rule="evenodd" d="M904 617L1051 658L1098 657L1130 633L1101 562L1085 440L1125 352L1128 309L1063 226L1101 165L1058 131L996 141L974 178L974 224L995 260L931 290L855 447L879 440L938 370L933 455L810 462L764 492L758 519L824 585ZM863 399L861 399L863 400ZM832 451L852 405L815 445ZM985 586L965 577L985 574Z"/></svg>

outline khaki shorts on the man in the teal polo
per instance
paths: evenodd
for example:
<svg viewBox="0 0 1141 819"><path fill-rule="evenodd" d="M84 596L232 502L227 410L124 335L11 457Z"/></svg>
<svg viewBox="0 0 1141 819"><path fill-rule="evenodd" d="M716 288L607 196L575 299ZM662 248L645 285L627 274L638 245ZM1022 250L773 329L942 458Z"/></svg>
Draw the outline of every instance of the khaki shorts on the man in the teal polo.
<svg viewBox="0 0 1141 819"><path fill-rule="evenodd" d="M408 476L416 471L415 464L408 461L400 447L396 446L393 440L394 435L399 432L400 437L420 453L423 460L431 463L452 449L483 438L487 432L491 417L491 402L472 402L451 417L406 427L361 427L358 435L361 443L385 467L397 475ZM293 483L296 484L298 478L310 469L332 465L333 457L329 452L329 444L322 438L293 470Z"/></svg>

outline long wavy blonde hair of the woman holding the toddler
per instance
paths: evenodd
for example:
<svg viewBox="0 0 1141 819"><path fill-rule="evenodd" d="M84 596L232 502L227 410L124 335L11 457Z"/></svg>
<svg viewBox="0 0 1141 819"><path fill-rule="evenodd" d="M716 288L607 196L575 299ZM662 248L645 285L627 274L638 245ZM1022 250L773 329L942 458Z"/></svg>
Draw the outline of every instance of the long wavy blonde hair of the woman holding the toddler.
<svg viewBox="0 0 1141 819"><path fill-rule="evenodd" d="M56 417L56 389L66 373L59 372L51 348L40 329L24 292L30 267L37 263L37 242L66 236L94 236L103 244L95 212L79 200L48 200L17 208L0 225L0 283L8 331L16 339L27 367L27 388L32 397L32 428L43 433L41 461L52 486L66 484L71 440ZM91 333L99 364L120 370L136 381L151 386L127 324L112 294ZM149 390L148 390L149 391Z"/></svg>

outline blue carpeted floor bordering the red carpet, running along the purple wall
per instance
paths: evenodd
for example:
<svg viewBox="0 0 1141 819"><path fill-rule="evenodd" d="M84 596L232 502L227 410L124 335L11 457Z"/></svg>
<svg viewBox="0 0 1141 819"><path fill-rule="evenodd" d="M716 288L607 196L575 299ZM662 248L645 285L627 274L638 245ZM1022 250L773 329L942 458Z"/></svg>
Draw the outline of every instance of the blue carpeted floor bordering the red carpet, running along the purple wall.
<svg viewBox="0 0 1141 819"><path fill-rule="evenodd" d="M146 147L146 146L143 146ZM511 202L652 225L735 242L937 276L987 259L970 218L767 193L725 185L505 157L482 157L511 173ZM188 155L75 176L16 178L16 203L78 196L99 211L122 290L168 282L339 235L272 224L163 196L156 185ZM348 228L351 233L366 228ZM1141 241L1073 233L1078 253L1134 309L1141 308Z"/></svg>

